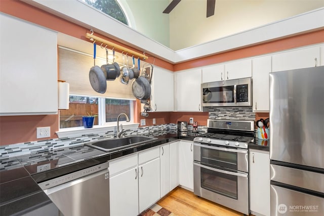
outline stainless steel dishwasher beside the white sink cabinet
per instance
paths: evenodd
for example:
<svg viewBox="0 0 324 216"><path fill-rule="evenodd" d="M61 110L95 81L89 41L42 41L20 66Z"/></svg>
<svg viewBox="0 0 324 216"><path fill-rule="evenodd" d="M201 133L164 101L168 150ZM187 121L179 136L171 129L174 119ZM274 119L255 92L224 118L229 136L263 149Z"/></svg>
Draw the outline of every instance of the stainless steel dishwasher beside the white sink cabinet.
<svg viewBox="0 0 324 216"><path fill-rule="evenodd" d="M109 162L39 183L64 216L109 215Z"/></svg>

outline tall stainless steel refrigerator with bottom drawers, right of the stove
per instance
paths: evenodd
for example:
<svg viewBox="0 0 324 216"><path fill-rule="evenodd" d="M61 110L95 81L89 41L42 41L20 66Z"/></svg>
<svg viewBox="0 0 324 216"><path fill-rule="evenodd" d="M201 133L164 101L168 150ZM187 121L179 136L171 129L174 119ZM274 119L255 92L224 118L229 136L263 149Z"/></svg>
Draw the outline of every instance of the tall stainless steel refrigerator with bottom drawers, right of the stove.
<svg viewBox="0 0 324 216"><path fill-rule="evenodd" d="M272 72L271 215L324 215L324 66Z"/></svg>

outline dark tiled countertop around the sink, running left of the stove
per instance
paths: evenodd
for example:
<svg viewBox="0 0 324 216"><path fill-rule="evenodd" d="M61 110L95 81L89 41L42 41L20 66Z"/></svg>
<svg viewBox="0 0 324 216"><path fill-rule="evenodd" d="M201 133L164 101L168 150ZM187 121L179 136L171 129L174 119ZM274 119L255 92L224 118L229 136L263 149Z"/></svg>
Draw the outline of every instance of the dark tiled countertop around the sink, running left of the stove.
<svg viewBox="0 0 324 216"><path fill-rule="evenodd" d="M0 161L5 164L0 171L0 215L22 215L51 203L38 183L168 142L192 141L198 134L165 134L144 145L111 153L79 145L3 159ZM50 169L37 172L37 166L42 164L49 164Z"/></svg>

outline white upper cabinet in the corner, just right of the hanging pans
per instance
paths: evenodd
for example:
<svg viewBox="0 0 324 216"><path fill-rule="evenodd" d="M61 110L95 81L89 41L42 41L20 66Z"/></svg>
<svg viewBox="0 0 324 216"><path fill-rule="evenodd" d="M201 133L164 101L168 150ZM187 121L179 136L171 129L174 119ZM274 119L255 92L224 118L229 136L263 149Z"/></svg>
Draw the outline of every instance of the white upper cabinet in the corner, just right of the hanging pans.
<svg viewBox="0 0 324 216"><path fill-rule="evenodd" d="M174 111L174 73L154 66L151 85L151 111Z"/></svg>

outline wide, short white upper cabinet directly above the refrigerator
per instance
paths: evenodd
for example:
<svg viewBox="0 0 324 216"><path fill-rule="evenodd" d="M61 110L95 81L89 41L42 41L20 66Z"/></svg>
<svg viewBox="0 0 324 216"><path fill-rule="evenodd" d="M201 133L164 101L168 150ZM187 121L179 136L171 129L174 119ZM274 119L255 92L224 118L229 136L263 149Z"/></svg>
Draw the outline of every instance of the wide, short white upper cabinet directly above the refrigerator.
<svg viewBox="0 0 324 216"><path fill-rule="evenodd" d="M302 48L272 55L272 72L315 67L320 64L320 47Z"/></svg>

